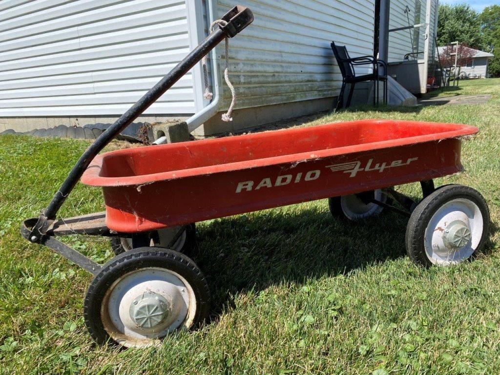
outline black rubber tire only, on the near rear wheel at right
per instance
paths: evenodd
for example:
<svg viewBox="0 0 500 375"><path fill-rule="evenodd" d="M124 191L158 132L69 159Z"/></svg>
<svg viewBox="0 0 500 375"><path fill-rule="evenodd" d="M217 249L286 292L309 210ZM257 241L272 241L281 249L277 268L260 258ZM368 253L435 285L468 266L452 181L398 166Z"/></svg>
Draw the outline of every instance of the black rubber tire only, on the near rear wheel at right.
<svg viewBox="0 0 500 375"><path fill-rule="evenodd" d="M429 268L434 265L425 253L424 234L425 229L432 218L432 215L444 203L456 199L466 198L473 201L482 214L483 227L482 235L477 247L472 255L467 260L471 260L477 256L482 250L484 243L489 235L489 209L484 197L475 189L469 186L449 184L436 187L434 192L422 199L414 211L411 213L408 224L406 226L406 234L404 242L406 252L413 263Z"/></svg>

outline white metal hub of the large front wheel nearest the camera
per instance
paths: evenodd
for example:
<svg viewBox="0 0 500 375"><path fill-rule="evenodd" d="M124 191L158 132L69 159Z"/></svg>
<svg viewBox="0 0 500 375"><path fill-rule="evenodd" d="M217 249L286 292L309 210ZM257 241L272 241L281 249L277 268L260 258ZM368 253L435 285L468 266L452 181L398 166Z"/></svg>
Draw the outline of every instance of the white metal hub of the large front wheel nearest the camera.
<svg viewBox="0 0 500 375"><path fill-rule="evenodd" d="M165 268L126 273L107 290L101 307L105 330L124 346L148 346L194 319L196 300L187 281Z"/></svg>

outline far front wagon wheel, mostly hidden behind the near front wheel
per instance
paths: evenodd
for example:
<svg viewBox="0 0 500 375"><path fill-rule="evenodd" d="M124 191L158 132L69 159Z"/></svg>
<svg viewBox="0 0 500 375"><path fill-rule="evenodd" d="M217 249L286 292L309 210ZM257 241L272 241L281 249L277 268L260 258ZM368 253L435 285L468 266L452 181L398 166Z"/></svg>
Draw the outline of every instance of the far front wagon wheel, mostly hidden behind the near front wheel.
<svg viewBox="0 0 500 375"><path fill-rule="evenodd" d="M168 247L173 236L176 234L177 227L157 230L158 242L151 241L151 245L158 247ZM125 237L111 237L109 239L111 249L118 255L132 249L132 239ZM182 252L184 254L192 254L196 247L196 226L194 223L186 225L184 230L175 243L170 246L172 250Z"/></svg>

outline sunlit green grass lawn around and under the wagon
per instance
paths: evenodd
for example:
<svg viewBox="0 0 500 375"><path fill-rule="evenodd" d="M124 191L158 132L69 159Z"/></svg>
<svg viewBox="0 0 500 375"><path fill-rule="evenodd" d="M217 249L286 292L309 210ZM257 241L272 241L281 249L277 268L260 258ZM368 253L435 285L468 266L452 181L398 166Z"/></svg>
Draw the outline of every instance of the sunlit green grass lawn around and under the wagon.
<svg viewBox="0 0 500 375"><path fill-rule="evenodd" d="M405 256L406 219L332 219L326 200L201 222L199 254L213 295L211 322L159 348L97 347L82 318L90 274L29 244L19 222L37 216L86 141L0 136L0 373L493 374L500 373L500 79L462 81L480 105L361 107L305 125L397 118L476 125L465 172L436 180L478 189L493 230L486 253L421 269ZM400 191L417 197L418 184ZM79 184L61 210L103 209ZM105 239L65 239L95 260Z"/></svg>

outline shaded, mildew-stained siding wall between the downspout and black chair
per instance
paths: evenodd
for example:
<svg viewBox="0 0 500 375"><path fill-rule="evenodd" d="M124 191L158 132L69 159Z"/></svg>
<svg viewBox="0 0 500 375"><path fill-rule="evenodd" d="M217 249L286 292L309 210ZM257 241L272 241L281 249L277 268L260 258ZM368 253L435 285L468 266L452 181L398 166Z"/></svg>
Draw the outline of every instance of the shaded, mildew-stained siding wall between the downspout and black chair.
<svg viewBox="0 0 500 375"><path fill-rule="evenodd" d="M218 0L219 16L232 5ZM247 0L252 25L230 39L237 108L338 95L331 40L352 57L373 54L374 0ZM223 55L223 45L217 51ZM219 69L223 66L219 60ZM220 70L222 71L222 70ZM359 68L359 72L366 68ZM223 84L223 104L230 92Z"/></svg>

